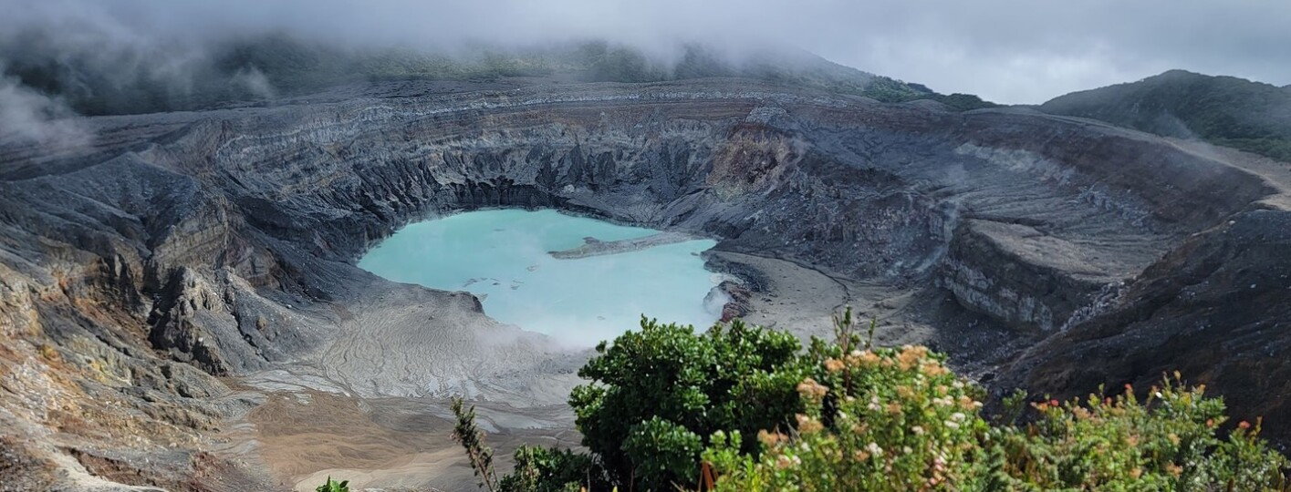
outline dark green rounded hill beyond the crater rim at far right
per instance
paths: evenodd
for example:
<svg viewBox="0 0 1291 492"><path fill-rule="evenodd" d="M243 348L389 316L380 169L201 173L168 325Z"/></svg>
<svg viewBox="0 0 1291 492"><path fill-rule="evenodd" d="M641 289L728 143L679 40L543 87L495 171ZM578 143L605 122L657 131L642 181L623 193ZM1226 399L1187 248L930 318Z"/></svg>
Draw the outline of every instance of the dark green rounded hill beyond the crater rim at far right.
<svg viewBox="0 0 1291 492"><path fill-rule="evenodd" d="M1291 86L1180 70L1041 106L1168 137L1195 137L1291 162Z"/></svg>

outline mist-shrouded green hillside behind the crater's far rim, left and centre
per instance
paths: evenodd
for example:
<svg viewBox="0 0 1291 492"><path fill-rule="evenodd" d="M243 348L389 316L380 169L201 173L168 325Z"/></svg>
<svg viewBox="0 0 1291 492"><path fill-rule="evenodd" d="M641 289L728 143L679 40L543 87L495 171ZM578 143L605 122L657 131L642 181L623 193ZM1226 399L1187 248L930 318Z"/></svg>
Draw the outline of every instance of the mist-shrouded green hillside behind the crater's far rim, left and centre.
<svg viewBox="0 0 1291 492"><path fill-rule="evenodd" d="M729 62L687 46L671 63L603 41L556 48L476 48L453 57L409 49L359 50L303 43L281 35L213 46L200 61L159 70L156 54L48 53L58 44L43 33L0 45L6 76L61 97L85 115L194 109L271 99L364 80L479 80L565 75L584 81L651 82L698 77L753 77L865 95L883 102L940 100L955 109L994 106L975 95L937 94L919 84L866 73L806 52L777 52Z"/></svg>

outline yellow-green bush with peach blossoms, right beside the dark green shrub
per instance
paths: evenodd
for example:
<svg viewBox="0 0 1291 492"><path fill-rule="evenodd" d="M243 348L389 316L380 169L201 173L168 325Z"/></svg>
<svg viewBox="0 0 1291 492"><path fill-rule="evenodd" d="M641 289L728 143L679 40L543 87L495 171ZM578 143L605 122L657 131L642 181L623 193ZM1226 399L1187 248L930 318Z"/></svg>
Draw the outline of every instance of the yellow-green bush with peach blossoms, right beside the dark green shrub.
<svg viewBox="0 0 1291 492"><path fill-rule="evenodd" d="M764 452L722 434L705 455L719 491L962 491L981 483L981 392L923 346L826 358L798 385L806 412L789 433L760 431ZM975 398L976 397L976 398Z"/></svg>

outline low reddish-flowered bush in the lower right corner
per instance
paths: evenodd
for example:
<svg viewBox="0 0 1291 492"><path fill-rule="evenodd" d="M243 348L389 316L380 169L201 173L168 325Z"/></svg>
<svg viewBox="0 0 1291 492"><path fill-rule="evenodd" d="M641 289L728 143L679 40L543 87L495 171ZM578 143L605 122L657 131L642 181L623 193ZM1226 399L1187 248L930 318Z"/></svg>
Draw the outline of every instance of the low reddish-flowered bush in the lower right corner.
<svg viewBox="0 0 1291 492"><path fill-rule="evenodd" d="M1020 489L1283 491L1285 456L1242 421L1220 438L1224 402L1179 375L1143 402L1117 397L1033 403L1038 420L998 433L1003 471Z"/></svg>

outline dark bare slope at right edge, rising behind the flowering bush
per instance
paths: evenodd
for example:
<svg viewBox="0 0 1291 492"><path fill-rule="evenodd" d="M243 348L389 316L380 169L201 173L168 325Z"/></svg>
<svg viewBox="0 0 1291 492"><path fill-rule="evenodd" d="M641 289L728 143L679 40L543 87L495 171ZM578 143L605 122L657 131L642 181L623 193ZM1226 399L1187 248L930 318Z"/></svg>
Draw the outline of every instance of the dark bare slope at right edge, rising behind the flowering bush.
<svg viewBox="0 0 1291 492"><path fill-rule="evenodd" d="M1124 287L1103 313L1026 350L1011 385L1073 395L1100 384L1146 390L1180 371L1224 397L1238 419L1291 428L1291 213L1254 210L1189 238Z"/></svg>

